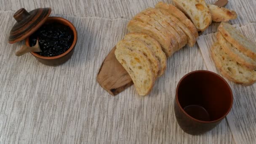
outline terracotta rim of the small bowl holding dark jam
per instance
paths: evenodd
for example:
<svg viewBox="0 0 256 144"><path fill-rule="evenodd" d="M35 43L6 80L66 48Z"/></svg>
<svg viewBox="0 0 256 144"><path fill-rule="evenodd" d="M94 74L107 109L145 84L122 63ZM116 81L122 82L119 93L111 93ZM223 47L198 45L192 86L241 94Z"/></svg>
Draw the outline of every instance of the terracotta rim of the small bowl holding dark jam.
<svg viewBox="0 0 256 144"><path fill-rule="evenodd" d="M58 56L41 56L40 54L37 54L35 52L31 52L31 54L37 58L45 59L45 60L59 59L65 55L67 55L70 51L72 51L72 49L74 49L74 47L77 43L77 30L76 30L75 26L70 21L68 21L67 19L64 19L62 17L51 16L51 17L48 17L45 22L47 22L49 20L56 20L57 22L61 21L62 23L65 23L65 24L67 24L68 27L70 27L70 29L74 33L74 40L73 40L72 45L70 46L70 48L67 51L65 51L64 53L62 53ZM26 45L29 46L29 37L26 38Z"/></svg>

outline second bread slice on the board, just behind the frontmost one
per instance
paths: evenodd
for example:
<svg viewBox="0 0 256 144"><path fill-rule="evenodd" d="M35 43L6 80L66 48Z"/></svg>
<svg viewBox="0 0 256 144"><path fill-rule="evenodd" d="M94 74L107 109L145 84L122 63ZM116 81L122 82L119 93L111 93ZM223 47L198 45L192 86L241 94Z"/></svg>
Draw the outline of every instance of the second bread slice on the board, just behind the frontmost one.
<svg viewBox="0 0 256 144"><path fill-rule="evenodd" d="M118 48L128 48L131 51L140 51L144 54L144 56L147 57L149 60L149 63L152 66L152 71L155 74L155 77L158 76L158 73L160 71L159 69L159 61L155 57L155 54L153 51L147 47L147 45L139 40L120 40L117 43L117 49Z"/></svg>

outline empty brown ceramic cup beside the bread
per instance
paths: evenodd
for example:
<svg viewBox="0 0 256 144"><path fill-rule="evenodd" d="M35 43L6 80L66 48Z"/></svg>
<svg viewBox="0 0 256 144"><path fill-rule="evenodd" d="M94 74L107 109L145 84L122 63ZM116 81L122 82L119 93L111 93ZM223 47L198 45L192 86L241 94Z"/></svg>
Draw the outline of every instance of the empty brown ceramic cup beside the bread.
<svg viewBox="0 0 256 144"><path fill-rule="evenodd" d="M232 104L233 95L228 83L216 73L198 70L179 81L174 111L184 132L199 135L218 125Z"/></svg>

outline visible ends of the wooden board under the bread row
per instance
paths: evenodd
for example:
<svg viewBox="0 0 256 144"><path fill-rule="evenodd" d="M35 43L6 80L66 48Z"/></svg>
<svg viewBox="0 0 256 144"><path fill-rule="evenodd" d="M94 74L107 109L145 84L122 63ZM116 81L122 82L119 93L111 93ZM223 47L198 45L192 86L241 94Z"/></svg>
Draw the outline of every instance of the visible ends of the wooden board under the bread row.
<svg viewBox="0 0 256 144"><path fill-rule="evenodd" d="M228 0L218 0L214 5L224 7L227 3ZM116 47L104 59L97 75L101 87L113 96L133 85L130 75L115 58L115 49Z"/></svg>

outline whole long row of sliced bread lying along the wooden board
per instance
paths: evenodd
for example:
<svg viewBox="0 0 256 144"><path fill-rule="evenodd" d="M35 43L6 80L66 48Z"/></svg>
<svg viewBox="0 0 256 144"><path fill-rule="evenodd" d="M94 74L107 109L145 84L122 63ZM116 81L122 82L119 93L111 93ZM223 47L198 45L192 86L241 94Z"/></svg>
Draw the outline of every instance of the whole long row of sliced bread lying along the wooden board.
<svg viewBox="0 0 256 144"><path fill-rule="evenodd" d="M183 3L180 6L178 0L173 1L179 8L159 2L155 8L136 14L128 23L131 33L117 43L115 56L131 76L139 95L151 91L157 77L165 72L169 56L186 44L190 47L195 45L198 31L211 24L211 6L208 8L204 0L181 0L187 3L185 7ZM187 9L189 4L194 6ZM224 19L224 15L218 16Z"/></svg>

